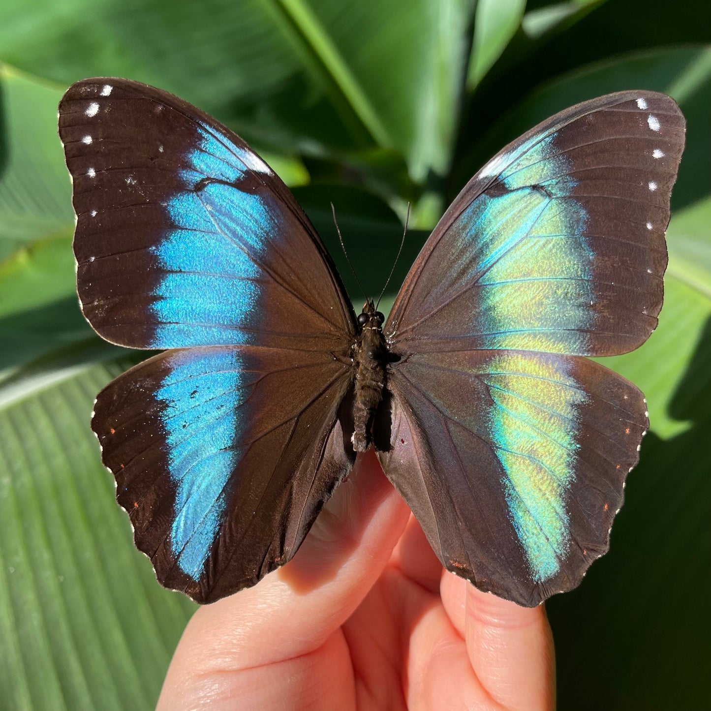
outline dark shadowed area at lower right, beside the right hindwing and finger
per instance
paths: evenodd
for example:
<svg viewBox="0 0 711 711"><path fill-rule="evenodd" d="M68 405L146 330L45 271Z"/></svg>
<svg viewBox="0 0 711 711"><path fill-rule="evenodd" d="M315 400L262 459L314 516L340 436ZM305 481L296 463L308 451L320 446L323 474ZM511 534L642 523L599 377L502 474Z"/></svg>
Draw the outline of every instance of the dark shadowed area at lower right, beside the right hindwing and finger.
<svg viewBox="0 0 711 711"><path fill-rule="evenodd" d="M670 415L690 429L646 438L609 554L547 604L561 711L711 707L711 319Z"/></svg>

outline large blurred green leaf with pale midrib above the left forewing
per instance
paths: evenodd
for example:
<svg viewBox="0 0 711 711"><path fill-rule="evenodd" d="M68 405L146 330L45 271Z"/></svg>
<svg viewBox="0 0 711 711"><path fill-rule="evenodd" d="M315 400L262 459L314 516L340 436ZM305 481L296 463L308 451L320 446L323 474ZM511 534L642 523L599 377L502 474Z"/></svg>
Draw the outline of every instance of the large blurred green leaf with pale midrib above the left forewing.
<svg viewBox="0 0 711 711"><path fill-rule="evenodd" d="M449 162L470 16L469 0L7 0L0 58L153 83L289 151L394 148L422 180Z"/></svg>

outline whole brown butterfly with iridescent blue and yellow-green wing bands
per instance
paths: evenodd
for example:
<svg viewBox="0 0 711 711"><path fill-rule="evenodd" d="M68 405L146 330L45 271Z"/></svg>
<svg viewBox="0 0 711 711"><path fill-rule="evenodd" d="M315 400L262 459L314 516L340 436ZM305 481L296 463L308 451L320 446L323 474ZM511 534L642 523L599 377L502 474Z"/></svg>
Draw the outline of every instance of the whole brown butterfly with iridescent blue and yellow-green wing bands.
<svg viewBox="0 0 711 711"><path fill-rule="evenodd" d="M371 443L447 569L527 606L579 584L648 424L582 356L657 324L673 100L607 95L506 146L385 324L372 301L356 317L292 193L207 114L87 79L59 127L82 310L107 341L166 349L92 419L162 584L211 602L284 565Z"/></svg>

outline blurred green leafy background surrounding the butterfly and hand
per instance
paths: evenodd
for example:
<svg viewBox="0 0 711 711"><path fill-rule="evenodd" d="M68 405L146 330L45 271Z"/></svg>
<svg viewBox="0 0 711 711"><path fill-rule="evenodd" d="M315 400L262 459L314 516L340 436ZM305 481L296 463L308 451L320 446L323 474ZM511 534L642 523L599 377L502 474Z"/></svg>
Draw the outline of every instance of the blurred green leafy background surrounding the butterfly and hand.
<svg viewBox="0 0 711 711"><path fill-rule="evenodd" d="M652 432L609 555L548 604L563 710L708 708L711 674L711 22L705 0L4 0L0 6L0 706L147 709L193 606L132 547L88 426L137 355L77 307L63 89L176 92L294 187L376 293L503 144L568 105L670 93L688 119L658 330L605 360ZM388 294L392 298L393 294Z"/></svg>

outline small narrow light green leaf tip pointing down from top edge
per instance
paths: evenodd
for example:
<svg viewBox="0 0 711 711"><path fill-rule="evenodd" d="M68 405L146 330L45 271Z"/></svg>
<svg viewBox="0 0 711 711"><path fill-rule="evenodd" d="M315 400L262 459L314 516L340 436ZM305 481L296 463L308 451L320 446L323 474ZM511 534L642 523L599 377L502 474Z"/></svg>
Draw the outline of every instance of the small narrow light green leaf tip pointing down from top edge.
<svg viewBox="0 0 711 711"><path fill-rule="evenodd" d="M479 0L466 85L476 87L520 27L525 0Z"/></svg>

